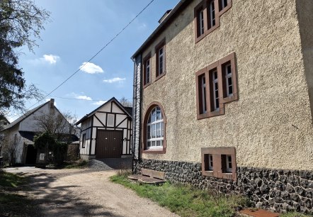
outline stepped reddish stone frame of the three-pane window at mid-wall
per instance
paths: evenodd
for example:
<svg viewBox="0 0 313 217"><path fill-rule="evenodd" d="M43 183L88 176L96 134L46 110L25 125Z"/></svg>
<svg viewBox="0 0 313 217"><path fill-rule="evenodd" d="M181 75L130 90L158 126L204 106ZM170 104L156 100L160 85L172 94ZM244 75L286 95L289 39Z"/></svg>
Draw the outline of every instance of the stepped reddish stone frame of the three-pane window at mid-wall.
<svg viewBox="0 0 313 217"><path fill-rule="evenodd" d="M197 118L210 118L213 116L220 116L224 114L224 104L231 101L238 100L237 93L237 69L235 64L235 52L223 57L221 60L217 60L207 67L200 69L198 72L195 72L195 89L196 89L196 104L197 104ZM227 96L226 89L226 74L224 67L230 65L231 74L232 74L232 95ZM214 89L212 83L212 72L217 70L217 84L218 84L218 98L219 100L219 109L214 108ZM205 76L205 96L206 96L206 108L207 111L203 112L203 93L201 91L200 78Z"/></svg>

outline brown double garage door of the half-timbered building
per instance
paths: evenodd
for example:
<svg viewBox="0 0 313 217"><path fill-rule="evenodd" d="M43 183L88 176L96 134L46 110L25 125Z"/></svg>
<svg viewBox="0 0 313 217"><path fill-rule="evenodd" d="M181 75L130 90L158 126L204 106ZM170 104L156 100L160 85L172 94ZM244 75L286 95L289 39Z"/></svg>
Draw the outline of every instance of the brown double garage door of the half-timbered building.
<svg viewBox="0 0 313 217"><path fill-rule="evenodd" d="M120 158L123 143L123 131L97 130L96 157Z"/></svg>

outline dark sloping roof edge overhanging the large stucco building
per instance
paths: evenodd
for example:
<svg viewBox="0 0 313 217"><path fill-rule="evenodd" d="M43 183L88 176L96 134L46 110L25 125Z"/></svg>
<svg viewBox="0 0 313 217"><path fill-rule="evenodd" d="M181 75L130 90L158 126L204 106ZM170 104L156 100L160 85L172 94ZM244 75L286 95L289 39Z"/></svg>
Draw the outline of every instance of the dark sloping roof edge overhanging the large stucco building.
<svg viewBox="0 0 313 217"><path fill-rule="evenodd" d="M159 26L153 31L153 33L147 38L147 40L144 41L144 43L140 46L140 48L132 55L131 59L133 60L140 52L143 50L150 41L161 31L163 28L166 27L167 24L172 20L172 18L175 18L178 12L180 12L182 9L184 9L183 6L187 6L192 1L190 0L181 0L176 4L176 6L169 12L169 15L164 18L164 21L162 21Z"/></svg>

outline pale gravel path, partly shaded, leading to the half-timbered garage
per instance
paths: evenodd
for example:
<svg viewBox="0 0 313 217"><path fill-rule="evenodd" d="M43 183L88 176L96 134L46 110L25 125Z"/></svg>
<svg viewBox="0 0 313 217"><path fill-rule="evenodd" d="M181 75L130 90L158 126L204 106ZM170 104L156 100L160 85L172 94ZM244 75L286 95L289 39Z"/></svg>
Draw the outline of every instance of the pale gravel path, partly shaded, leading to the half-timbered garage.
<svg viewBox="0 0 313 217"><path fill-rule="evenodd" d="M110 182L114 171L19 167L7 172L30 177L21 193L38 201L42 216L176 216Z"/></svg>

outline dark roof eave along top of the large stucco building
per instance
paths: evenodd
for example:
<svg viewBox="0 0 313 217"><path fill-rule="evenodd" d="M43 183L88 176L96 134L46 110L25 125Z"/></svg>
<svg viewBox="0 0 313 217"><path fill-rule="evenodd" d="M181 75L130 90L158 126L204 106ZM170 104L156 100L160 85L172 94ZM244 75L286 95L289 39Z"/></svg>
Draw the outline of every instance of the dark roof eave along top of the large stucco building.
<svg viewBox="0 0 313 217"><path fill-rule="evenodd" d="M181 0L178 2L178 4L169 12L169 14L164 18L164 20L159 24L159 26L153 31L153 33L147 38L146 41L140 46L140 48L132 55L132 59L135 59L137 55L139 55L142 50L147 48L147 46L152 43L153 40L155 40L160 33L162 33L171 22L178 16L183 9L186 8L190 3L192 3L192 0Z"/></svg>

